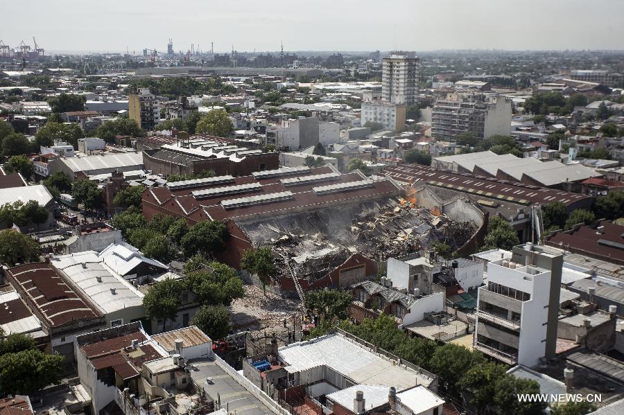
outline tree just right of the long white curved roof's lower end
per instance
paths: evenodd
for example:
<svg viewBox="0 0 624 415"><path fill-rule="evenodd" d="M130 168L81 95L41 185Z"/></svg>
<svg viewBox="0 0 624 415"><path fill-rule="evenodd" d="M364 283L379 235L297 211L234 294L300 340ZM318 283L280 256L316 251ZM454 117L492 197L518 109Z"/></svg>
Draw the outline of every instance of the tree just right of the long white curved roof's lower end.
<svg viewBox="0 0 624 415"><path fill-rule="evenodd" d="M152 285L143 297L145 315L150 319L162 320L163 331L166 321L175 319L177 309L182 306L182 291L184 291L182 281L167 278Z"/></svg>

